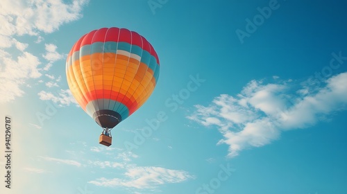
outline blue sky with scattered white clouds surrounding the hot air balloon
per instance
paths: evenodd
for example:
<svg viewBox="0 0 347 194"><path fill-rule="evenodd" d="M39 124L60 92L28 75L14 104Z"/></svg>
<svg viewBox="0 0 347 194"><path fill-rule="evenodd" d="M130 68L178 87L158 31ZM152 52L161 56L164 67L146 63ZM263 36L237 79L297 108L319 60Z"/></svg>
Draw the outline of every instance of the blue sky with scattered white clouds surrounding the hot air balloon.
<svg viewBox="0 0 347 194"><path fill-rule="evenodd" d="M1 125L12 118L1 193L346 193L346 6L1 1ZM112 26L146 37L161 67L107 148L65 60L82 35Z"/></svg>

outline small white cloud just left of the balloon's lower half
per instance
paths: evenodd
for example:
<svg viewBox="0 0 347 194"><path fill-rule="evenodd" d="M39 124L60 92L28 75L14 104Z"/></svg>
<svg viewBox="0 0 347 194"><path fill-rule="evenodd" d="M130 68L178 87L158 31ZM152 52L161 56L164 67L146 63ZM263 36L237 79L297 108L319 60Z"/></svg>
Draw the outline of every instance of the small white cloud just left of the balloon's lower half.
<svg viewBox="0 0 347 194"><path fill-rule="evenodd" d="M40 91L38 95L41 100L52 100L53 103L57 103L60 106L68 106L70 104L78 105L69 89L60 89L56 94L47 91Z"/></svg>

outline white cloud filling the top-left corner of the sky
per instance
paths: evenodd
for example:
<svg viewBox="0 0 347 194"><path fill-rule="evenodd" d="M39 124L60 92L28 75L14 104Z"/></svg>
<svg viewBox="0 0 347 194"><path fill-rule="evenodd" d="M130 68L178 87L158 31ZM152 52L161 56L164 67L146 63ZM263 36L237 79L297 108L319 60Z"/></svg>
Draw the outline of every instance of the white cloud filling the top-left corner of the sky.
<svg viewBox="0 0 347 194"><path fill-rule="evenodd" d="M81 18L85 0L64 3L62 0L25 1L2 0L0 7L0 34L38 35L52 33L69 21Z"/></svg>

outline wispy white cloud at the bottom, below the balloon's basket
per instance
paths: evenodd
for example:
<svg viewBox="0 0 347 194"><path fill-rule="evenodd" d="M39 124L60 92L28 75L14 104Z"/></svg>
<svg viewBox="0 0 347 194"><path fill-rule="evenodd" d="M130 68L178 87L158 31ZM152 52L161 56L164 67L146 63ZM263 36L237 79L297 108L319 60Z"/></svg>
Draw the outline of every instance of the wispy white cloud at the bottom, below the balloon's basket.
<svg viewBox="0 0 347 194"><path fill-rule="evenodd" d="M110 150L111 149L111 150ZM96 186L105 187L125 187L127 189L156 189L157 186L162 184L179 183L184 182L187 179L194 179L193 175L190 175L185 170L171 170L162 167L155 166L137 166L133 164L133 159L138 156L133 152L124 151L119 148L105 148L105 147L92 147L92 152L98 152L108 155L108 152L114 151L115 156L110 158L115 161L101 161L101 160L87 160L87 166L105 168L105 170L114 169L123 171L121 177L109 178L100 177L99 179L91 180L89 183ZM151 190L153 191L153 190ZM153 193L153 192L151 192Z"/></svg>

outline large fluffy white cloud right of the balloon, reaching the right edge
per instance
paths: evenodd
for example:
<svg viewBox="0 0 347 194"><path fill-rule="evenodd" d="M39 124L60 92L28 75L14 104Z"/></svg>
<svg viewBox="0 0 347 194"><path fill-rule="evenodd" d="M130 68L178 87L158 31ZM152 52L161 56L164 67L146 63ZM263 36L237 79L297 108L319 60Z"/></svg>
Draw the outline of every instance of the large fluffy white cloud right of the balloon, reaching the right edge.
<svg viewBox="0 0 347 194"><path fill-rule="evenodd" d="M278 139L282 130L310 127L322 116L346 109L347 73L329 78L324 87L305 85L305 92L293 92L288 82L292 80L277 84L253 80L236 97L222 94L208 107L196 105L196 112L187 118L217 126L223 134L217 144L229 145L228 157L235 157L241 150Z"/></svg>

